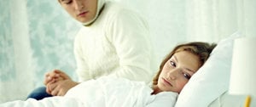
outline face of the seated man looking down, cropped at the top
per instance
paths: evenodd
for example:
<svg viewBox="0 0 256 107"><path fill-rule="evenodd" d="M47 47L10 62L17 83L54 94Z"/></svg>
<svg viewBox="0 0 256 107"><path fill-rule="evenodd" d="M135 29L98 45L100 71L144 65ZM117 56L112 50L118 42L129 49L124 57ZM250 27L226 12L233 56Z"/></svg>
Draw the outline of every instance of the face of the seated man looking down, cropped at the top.
<svg viewBox="0 0 256 107"><path fill-rule="evenodd" d="M97 0L59 0L59 3L81 23L93 20L96 16Z"/></svg>

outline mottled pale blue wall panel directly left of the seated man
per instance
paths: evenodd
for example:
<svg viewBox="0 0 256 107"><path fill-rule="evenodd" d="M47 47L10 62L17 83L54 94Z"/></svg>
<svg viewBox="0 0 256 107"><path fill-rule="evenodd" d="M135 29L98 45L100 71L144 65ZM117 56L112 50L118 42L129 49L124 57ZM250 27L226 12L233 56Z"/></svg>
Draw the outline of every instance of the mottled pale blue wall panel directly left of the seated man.
<svg viewBox="0 0 256 107"><path fill-rule="evenodd" d="M35 82L42 82L45 72L53 69L73 76L73 38L79 24L63 11L57 0L28 0L27 14L32 57L37 64Z"/></svg>

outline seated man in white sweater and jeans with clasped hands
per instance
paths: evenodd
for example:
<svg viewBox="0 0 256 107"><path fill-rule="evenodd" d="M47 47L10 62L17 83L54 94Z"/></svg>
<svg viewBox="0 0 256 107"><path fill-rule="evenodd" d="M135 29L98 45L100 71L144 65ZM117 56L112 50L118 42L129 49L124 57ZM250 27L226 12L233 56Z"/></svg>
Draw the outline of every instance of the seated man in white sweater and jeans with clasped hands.
<svg viewBox="0 0 256 107"><path fill-rule="evenodd" d="M100 76L149 82L157 69L148 24L118 3L105 0L58 0L84 27L74 41L79 82ZM28 98L63 96L78 85L64 71L46 74L44 84Z"/></svg>

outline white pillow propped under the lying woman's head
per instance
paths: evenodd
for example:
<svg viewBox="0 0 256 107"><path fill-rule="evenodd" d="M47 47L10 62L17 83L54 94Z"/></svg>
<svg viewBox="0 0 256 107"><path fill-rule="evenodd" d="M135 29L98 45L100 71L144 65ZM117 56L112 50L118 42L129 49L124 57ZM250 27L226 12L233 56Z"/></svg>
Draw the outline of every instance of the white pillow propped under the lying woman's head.
<svg viewBox="0 0 256 107"><path fill-rule="evenodd" d="M218 42L207 62L179 94L175 107L207 107L229 89L233 40L238 33Z"/></svg>

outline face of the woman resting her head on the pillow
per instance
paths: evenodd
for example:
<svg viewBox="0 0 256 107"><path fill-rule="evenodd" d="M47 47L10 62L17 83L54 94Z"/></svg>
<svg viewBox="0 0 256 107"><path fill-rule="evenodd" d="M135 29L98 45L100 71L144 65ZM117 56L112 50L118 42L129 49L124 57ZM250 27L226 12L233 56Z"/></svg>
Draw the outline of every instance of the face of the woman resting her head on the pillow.
<svg viewBox="0 0 256 107"><path fill-rule="evenodd" d="M160 91L180 93L189 78L201 67L199 57L187 51L174 53L164 65L157 87Z"/></svg>

